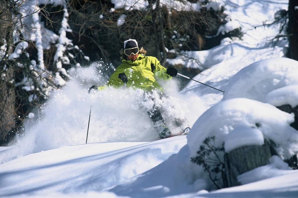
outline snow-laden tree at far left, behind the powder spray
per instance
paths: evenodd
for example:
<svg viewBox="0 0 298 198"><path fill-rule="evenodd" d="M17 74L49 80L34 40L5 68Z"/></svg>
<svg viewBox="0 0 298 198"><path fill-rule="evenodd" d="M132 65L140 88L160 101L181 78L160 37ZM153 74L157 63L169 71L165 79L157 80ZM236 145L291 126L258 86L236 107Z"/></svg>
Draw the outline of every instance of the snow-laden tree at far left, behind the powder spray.
<svg viewBox="0 0 298 198"><path fill-rule="evenodd" d="M39 7L33 1L6 0L0 2L0 7L1 145L15 135L16 129L34 106L43 103L53 89L65 84L61 76L66 71L62 67L51 67L44 61L46 49L42 38L47 30L43 28L39 16L47 18L49 15L44 9L46 5ZM63 33L61 31L60 35ZM58 53L58 50L55 51ZM56 65L66 59L60 52L55 60Z"/></svg>

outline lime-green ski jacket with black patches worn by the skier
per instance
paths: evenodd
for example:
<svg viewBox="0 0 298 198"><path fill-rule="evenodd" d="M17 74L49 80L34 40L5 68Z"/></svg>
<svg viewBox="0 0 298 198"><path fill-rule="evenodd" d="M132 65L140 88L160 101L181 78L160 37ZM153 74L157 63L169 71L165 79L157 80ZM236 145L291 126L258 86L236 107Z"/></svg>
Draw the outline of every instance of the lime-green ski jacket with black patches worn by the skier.
<svg viewBox="0 0 298 198"><path fill-rule="evenodd" d="M108 80L109 86L140 88L146 91L153 89L163 90L157 83L156 77L169 80L172 77L166 73L167 69L160 65L159 60L153 56L139 54L135 61L122 59L122 64L116 68L116 71ZM98 87L104 89L105 86Z"/></svg>

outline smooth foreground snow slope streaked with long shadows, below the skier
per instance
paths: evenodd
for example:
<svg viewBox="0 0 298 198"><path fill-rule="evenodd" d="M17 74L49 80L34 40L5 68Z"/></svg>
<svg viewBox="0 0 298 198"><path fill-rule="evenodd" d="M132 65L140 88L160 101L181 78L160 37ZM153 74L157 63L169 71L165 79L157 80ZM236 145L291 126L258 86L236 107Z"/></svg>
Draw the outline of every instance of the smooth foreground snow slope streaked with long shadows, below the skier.
<svg viewBox="0 0 298 198"><path fill-rule="evenodd" d="M150 143L82 144L26 155L0 165L0 197L102 191L157 166L185 144L186 137L180 136Z"/></svg>

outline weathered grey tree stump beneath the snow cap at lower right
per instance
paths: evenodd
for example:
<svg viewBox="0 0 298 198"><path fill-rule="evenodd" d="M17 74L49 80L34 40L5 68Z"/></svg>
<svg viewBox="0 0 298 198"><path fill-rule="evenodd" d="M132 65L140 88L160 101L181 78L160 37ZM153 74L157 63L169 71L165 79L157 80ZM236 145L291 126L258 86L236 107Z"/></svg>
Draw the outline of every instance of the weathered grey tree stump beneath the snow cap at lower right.
<svg viewBox="0 0 298 198"><path fill-rule="evenodd" d="M250 145L236 148L225 154L226 175L224 187L239 186L237 176L259 166L268 164L272 156L270 143L265 140L263 145Z"/></svg>

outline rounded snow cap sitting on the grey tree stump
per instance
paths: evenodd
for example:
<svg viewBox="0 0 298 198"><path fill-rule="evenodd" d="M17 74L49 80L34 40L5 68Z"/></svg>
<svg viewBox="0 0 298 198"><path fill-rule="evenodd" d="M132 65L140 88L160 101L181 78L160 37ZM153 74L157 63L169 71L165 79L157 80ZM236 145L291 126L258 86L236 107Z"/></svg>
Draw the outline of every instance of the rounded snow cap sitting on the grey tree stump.
<svg viewBox="0 0 298 198"><path fill-rule="evenodd" d="M228 135L234 137L233 141L227 140L228 149L247 145L246 140L252 140L250 144L260 144L262 140L260 133L252 133L255 129L262 132L264 139L270 139L277 144L276 150L281 158L290 158L298 151L298 133L290 127L293 121L294 115L270 104L248 98L225 100L205 111L193 125L187 136L190 157L196 155L199 145L206 137L214 135L215 146L220 146L225 139L228 139ZM250 133L250 138L239 142L235 135L237 132Z"/></svg>

